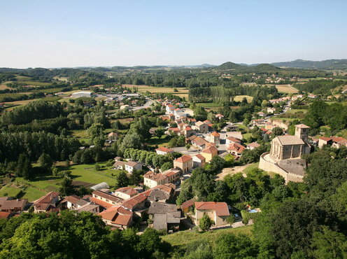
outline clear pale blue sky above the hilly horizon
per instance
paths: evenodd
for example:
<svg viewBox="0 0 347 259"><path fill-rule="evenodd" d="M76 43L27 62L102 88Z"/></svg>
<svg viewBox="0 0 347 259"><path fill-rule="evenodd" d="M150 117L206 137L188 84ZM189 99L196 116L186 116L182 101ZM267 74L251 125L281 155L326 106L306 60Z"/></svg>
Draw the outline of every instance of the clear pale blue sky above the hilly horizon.
<svg viewBox="0 0 347 259"><path fill-rule="evenodd" d="M0 67L347 58L347 1L2 1Z"/></svg>

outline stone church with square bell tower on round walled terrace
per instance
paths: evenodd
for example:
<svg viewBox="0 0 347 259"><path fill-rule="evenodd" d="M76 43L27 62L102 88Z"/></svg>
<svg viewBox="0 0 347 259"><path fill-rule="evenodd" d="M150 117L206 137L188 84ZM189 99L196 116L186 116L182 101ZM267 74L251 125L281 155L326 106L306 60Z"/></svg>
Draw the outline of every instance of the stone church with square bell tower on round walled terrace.
<svg viewBox="0 0 347 259"><path fill-rule="evenodd" d="M259 168L281 174L286 183L303 181L306 161L301 159L301 156L311 152L309 128L304 124L295 125L294 136L274 138L270 152L260 156Z"/></svg>

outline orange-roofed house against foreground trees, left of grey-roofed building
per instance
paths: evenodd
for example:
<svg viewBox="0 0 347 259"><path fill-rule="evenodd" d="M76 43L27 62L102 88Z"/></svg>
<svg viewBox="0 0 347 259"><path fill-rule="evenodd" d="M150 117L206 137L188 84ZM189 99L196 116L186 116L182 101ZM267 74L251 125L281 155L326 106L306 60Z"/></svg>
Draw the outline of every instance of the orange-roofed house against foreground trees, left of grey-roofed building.
<svg viewBox="0 0 347 259"><path fill-rule="evenodd" d="M98 214L106 225L125 230L132 225L132 211L128 211L122 206L114 206Z"/></svg>

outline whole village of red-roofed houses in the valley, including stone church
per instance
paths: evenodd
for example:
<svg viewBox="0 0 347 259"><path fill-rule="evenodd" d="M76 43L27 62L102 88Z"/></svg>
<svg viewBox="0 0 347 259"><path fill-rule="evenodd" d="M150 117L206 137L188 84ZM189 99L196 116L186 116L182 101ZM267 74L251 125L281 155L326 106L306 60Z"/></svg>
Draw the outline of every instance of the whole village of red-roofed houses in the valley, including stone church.
<svg viewBox="0 0 347 259"><path fill-rule="evenodd" d="M58 93L59 94L59 93ZM120 110L139 111L161 107L162 115L158 118L164 121L164 134L171 137L183 137L185 146L155 148L153 154L172 155L173 167L158 169L146 165L146 162L129 158L114 158L113 169L123 170L131 175L136 170L148 169L143 174L143 182L139 186L124 186L111 190L106 182L90 186L92 192L83 197L69 195L62 197L56 191L51 191L33 202L27 199L13 197L0 197L0 217L10 218L26 212L57 212L69 209L80 213L83 211L97 214L106 225L121 230L136 225L139 231L150 227L156 230L174 232L192 229L199 225L204 215L213 221L213 228L239 227L243 224L241 213L226 202L199 202L194 198L180 205L176 199L180 193L181 185L192 176L192 171L204 168L216 157L232 158L238 161L245 151L260 148L257 141L246 141L243 137L247 131L258 129L261 137L271 138L271 150L260 155L259 168L265 172L280 174L285 182L302 182L305 174L306 163L302 155L311 152L313 146L322 148L330 145L336 148L347 146L347 140L342 137L316 137L309 136L309 127L304 124L294 125L295 134L288 134L288 124L273 117L290 111L292 102L303 99L303 94L291 97L270 99L269 104L281 106L264 107L262 111L253 114L252 120L247 125L242 122L230 123L220 113L212 113L213 121L197 120L194 111L187 102L177 102L176 99L154 99L130 90L115 92L109 89L106 94L92 94L92 92L74 92L70 98L80 97L106 97L104 102L118 102ZM316 98L311 95L305 98ZM142 100L140 102L140 100ZM127 102L125 102L127 101ZM129 104L127 104L129 103ZM88 104L85 102L85 104ZM136 106L140 104L141 106ZM88 104L89 105L89 104ZM222 127L215 127L216 125ZM273 135L274 129L281 129L281 134ZM216 130L218 129L218 130ZM151 128L150 134L155 134L157 128ZM119 134L107 134L106 145L117 141ZM84 149L85 147L83 147ZM87 147L93 148L93 146ZM179 154L179 155L177 155ZM258 213L260 209L248 207L248 212ZM229 218L232 217L232 221ZM250 221L250 224L252 221Z"/></svg>

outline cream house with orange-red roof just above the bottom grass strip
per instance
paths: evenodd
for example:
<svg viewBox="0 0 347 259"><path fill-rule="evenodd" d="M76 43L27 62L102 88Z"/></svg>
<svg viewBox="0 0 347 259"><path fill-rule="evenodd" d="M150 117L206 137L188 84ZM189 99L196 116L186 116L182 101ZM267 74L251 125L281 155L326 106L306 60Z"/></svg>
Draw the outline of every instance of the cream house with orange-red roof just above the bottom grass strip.
<svg viewBox="0 0 347 259"><path fill-rule="evenodd" d="M225 202L194 202L195 225L206 214L214 222L215 226L227 225L227 217L230 216Z"/></svg>

